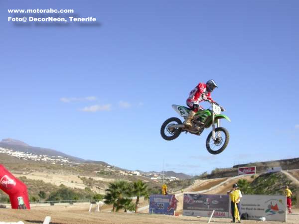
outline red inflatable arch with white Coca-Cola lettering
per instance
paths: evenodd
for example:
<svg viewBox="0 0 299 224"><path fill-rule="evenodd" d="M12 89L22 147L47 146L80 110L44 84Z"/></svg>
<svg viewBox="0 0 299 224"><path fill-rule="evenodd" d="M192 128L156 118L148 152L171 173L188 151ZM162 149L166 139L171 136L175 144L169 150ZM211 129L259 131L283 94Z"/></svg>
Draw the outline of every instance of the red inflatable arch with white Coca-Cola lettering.
<svg viewBox="0 0 299 224"><path fill-rule="evenodd" d="M27 187L0 165L0 189L8 196L12 209L30 209Z"/></svg>

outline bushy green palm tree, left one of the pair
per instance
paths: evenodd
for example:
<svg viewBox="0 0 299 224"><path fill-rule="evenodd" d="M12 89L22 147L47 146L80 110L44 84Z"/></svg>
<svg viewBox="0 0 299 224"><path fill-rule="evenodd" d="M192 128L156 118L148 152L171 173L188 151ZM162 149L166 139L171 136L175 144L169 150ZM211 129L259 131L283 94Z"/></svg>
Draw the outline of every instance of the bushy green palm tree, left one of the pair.
<svg viewBox="0 0 299 224"><path fill-rule="evenodd" d="M130 209L132 199L126 198L130 195L129 184L127 181L115 181L109 184L109 188L105 190L104 197L105 204L113 205L112 211L119 211L120 209Z"/></svg>

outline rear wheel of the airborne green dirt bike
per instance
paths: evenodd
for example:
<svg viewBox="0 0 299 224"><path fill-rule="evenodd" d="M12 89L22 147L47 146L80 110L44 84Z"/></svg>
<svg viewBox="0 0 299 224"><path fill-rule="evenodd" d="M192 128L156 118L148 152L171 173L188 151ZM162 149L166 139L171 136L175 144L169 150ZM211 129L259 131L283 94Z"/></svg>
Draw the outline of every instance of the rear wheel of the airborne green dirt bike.
<svg viewBox="0 0 299 224"><path fill-rule="evenodd" d="M171 128L170 126L173 124L182 124L182 121L177 117L171 117L165 120L160 130L163 139L171 141L180 135L182 129L179 127Z"/></svg>

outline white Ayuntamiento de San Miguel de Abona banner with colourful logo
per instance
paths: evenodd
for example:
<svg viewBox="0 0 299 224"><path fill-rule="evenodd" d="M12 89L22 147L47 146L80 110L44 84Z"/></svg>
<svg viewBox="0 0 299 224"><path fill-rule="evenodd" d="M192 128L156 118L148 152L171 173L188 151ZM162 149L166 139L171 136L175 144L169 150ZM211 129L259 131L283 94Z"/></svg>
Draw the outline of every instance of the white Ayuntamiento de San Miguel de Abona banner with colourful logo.
<svg viewBox="0 0 299 224"><path fill-rule="evenodd" d="M248 219L286 222L286 196L284 195L243 195L241 214L248 213Z"/></svg>

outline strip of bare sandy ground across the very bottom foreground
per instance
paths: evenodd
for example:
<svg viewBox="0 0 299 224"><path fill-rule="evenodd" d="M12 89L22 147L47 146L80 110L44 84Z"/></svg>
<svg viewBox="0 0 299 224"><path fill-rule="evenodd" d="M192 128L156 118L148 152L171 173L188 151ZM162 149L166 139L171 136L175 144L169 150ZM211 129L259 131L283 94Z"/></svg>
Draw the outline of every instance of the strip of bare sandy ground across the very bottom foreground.
<svg viewBox="0 0 299 224"><path fill-rule="evenodd" d="M208 218L196 218L186 216L165 216L150 214L112 213L108 211L88 212L89 205L84 206L52 206L32 208L29 211L0 209L1 222L18 222L25 224L41 224L46 216L52 218L51 224L200 224L207 223ZM287 215L287 223L298 224L299 210ZM230 223L231 219L212 218L211 223ZM279 224L281 222L260 222L244 220L245 224Z"/></svg>

